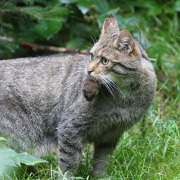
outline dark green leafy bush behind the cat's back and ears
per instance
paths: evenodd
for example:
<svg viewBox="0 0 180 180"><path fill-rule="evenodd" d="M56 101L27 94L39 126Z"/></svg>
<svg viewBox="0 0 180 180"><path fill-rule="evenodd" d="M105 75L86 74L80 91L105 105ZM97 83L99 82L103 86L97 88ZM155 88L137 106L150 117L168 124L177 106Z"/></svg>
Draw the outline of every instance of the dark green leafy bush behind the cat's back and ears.
<svg viewBox="0 0 180 180"><path fill-rule="evenodd" d="M131 3L119 0L104 0L103 3L101 0L1 0L0 7L1 58L29 55L27 49L20 46L23 41L86 49L92 44L91 37L96 39L99 35L97 27L100 28L111 14L117 17L121 28L131 30L147 47L154 43L155 34L159 36L166 32L165 38L173 37L174 33L179 36L178 0L167 3L155 0Z"/></svg>

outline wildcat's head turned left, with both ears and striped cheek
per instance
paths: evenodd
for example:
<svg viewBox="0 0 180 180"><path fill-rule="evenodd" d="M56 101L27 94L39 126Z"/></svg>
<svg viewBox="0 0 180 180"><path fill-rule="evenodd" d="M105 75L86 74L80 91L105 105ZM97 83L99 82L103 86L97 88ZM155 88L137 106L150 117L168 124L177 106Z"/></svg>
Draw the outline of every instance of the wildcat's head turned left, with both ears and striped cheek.
<svg viewBox="0 0 180 180"><path fill-rule="evenodd" d="M113 16L104 21L100 38L90 54L87 72L106 87L112 84L126 86L139 71L140 47L129 31L119 30Z"/></svg>

